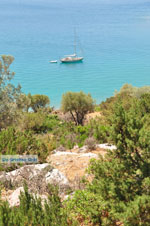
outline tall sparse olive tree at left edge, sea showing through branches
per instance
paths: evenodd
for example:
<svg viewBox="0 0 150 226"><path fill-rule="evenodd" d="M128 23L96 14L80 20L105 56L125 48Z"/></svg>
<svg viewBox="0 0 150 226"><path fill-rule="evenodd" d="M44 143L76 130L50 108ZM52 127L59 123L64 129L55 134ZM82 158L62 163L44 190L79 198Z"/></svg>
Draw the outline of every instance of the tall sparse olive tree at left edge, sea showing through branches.
<svg viewBox="0 0 150 226"><path fill-rule="evenodd" d="M0 56L0 130L16 120L16 102L21 93L21 86L10 83L15 73L10 71L13 56Z"/></svg>

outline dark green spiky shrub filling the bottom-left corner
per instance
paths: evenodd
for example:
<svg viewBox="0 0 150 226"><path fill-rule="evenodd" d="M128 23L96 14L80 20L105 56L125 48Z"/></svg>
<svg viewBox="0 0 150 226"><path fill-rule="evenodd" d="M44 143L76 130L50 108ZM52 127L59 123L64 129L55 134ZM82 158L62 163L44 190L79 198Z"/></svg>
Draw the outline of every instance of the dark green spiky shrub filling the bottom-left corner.
<svg viewBox="0 0 150 226"><path fill-rule="evenodd" d="M50 186L48 201L34 197L24 186L24 193L20 196L19 207L9 207L7 202L0 203L1 226L67 226L67 218L63 211L58 189Z"/></svg>

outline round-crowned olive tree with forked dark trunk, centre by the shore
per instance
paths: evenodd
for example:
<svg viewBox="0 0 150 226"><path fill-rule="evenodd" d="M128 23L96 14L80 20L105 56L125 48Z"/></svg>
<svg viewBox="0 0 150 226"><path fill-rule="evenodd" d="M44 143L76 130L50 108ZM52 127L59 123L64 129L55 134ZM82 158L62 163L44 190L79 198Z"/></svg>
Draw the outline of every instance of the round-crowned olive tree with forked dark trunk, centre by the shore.
<svg viewBox="0 0 150 226"><path fill-rule="evenodd" d="M80 92L67 92L62 96L61 109L69 112L76 125L83 125L83 120L88 112L94 110L94 100L90 94Z"/></svg>

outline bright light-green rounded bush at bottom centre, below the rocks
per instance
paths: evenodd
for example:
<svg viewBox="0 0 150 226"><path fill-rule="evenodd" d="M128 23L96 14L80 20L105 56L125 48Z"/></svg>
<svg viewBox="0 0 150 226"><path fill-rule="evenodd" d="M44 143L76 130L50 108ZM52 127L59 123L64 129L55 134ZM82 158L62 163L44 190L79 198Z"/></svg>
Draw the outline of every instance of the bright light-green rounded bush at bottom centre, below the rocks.
<svg viewBox="0 0 150 226"><path fill-rule="evenodd" d="M66 201L66 211L71 225L74 222L77 225L101 225L101 200L87 190L76 191L73 198Z"/></svg>

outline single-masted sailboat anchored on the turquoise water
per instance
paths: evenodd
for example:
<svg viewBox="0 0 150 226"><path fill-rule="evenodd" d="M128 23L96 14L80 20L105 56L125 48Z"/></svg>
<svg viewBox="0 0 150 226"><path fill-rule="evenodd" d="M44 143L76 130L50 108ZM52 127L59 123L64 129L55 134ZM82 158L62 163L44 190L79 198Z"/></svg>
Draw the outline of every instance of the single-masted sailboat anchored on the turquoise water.
<svg viewBox="0 0 150 226"><path fill-rule="evenodd" d="M76 63L76 62L82 62L83 61L83 57L79 57L77 55L77 42L76 42L76 32L75 32L75 40L74 40L74 54L71 55L65 55L64 58L61 58L60 61L62 63Z"/></svg>

